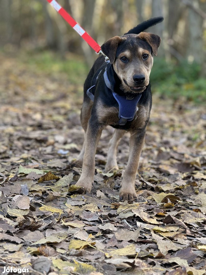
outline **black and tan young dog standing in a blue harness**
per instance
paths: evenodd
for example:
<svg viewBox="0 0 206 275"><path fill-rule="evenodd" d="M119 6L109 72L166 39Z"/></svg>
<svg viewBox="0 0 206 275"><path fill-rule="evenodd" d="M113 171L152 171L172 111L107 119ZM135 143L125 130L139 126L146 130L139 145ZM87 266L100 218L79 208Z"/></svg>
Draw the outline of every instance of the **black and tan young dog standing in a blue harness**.
<svg viewBox="0 0 206 275"><path fill-rule="evenodd" d="M76 164L82 164L82 174L76 183L84 193L90 193L95 172L95 153L102 130L115 128L109 142L105 170L118 169L116 161L119 140L126 131L130 136L129 160L119 190L120 200L135 200L135 178L144 145L146 125L152 107L149 75L153 55L157 55L161 38L143 32L163 21L151 18L137 25L123 36L115 36L101 46L104 56L94 62L84 83L81 123L85 141Z"/></svg>

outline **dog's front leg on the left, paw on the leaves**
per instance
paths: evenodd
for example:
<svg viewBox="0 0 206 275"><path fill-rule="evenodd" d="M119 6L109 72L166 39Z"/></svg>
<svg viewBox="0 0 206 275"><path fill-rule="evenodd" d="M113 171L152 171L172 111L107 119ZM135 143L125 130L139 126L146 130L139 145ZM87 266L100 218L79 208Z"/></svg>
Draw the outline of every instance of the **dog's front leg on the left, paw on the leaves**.
<svg viewBox="0 0 206 275"><path fill-rule="evenodd" d="M84 188L84 193L91 192L95 171L95 153L103 128L96 120L90 118L85 139L82 174L76 183Z"/></svg>

